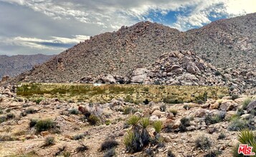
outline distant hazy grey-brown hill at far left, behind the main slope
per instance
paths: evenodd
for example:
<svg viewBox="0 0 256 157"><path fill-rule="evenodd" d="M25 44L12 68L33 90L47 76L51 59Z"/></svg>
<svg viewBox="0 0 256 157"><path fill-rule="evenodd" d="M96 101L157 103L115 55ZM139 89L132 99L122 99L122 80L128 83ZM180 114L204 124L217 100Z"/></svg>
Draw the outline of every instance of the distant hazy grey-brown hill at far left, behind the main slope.
<svg viewBox="0 0 256 157"><path fill-rule="evenodd" d="M42 64L52 56L43 54L35 55L0 55L0 78L3 76L17 76L24 71L29 71L36 64Z"/></svg>

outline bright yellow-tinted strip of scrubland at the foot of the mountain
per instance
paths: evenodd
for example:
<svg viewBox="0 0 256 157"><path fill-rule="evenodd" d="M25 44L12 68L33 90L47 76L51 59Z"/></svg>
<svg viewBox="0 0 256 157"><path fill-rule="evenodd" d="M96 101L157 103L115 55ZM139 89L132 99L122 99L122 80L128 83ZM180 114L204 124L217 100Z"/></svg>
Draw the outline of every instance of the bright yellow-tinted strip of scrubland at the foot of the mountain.
<svg viewBox="0 0 256 157"><path fill-rule="evenodd" d="M17 96L26 98L66 98L85 102L106 103L113 98L124 98L131 103L142 103L146 99L154 102L184 103L204 101L205 98L227 96L223 86L163 86L141 84L85 83L21 83Z"/></svg>

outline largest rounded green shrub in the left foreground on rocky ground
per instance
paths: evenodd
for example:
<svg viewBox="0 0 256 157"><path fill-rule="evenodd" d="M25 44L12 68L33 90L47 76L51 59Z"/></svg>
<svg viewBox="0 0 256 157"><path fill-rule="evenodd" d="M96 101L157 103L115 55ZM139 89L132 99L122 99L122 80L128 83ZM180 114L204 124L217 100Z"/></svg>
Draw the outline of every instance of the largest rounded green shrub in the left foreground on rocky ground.
<svg viewBox="0 0 256 157"><path fill-rule="evenodd" d="M52 119L44 119L37 121L37 124L35 125L35 128L37 132L41 131L49 131L56 127L56 123L52 121Z"/></svg>

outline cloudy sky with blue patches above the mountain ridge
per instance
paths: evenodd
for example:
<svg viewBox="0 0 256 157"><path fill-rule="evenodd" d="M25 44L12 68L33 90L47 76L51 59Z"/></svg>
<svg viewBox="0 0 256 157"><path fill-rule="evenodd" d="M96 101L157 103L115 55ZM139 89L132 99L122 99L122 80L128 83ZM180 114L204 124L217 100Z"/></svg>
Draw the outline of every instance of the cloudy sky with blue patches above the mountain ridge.
<svg viewBox="0 0 256 157"><path fill-rule="evenodd" d="M58 54L138 21L186 31L253 12L256 0L0 0L0 55Z"/></svg>

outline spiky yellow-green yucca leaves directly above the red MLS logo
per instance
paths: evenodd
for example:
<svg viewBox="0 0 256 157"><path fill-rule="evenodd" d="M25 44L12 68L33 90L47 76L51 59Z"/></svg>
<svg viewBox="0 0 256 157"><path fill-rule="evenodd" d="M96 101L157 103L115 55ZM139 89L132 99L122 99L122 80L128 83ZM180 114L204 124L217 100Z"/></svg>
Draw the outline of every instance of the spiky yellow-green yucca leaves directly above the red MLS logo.
<svg viewBox="0 0 256 157"><path fill-rule="evenodd" d="M242 144L248 144L252 146L252 152L256 152L255 132L249 130L248 128L242 129L238 135L238 141L240 141Z"/></svg>

